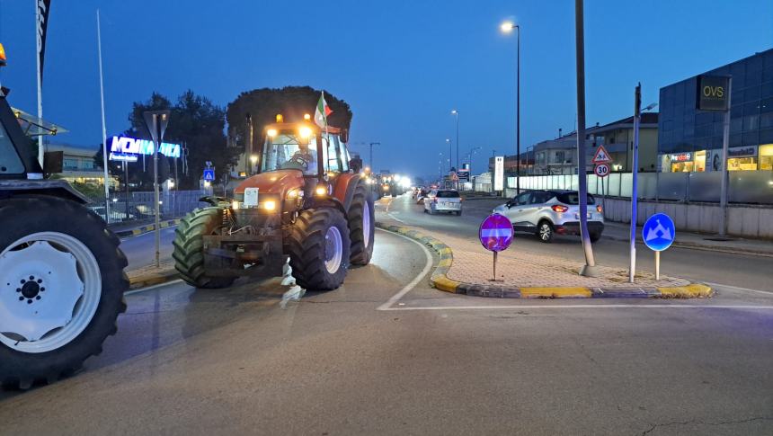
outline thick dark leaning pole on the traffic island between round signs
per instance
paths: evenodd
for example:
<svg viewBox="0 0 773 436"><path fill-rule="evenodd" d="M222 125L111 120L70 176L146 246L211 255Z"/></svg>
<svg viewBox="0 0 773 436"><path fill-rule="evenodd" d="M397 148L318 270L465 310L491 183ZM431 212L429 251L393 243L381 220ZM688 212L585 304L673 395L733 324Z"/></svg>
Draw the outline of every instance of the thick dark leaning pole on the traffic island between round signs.
<svg viewBox="0 0 773 436"><path fill-rule="evenodd" d="M582 0L574 0L575 42L577 46L577 179L580 193L580 236L585 265L580 275L598 275L588 234L588 171L585 166L585 30Z"/></svg>

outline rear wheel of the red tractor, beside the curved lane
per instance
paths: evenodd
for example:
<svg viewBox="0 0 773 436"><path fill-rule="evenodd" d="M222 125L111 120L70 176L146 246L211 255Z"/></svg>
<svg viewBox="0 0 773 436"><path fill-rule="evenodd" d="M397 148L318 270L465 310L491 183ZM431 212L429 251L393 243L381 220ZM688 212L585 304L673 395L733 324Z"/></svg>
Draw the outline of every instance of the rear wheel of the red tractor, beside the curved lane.
<svg viewBox="0 0 773 436"><path fill-rule="evenodd" d="M351 264L367 265L373 256L376 209L373 205L373 197L362 184L355 188L348 218L351 235Z"/></svg>

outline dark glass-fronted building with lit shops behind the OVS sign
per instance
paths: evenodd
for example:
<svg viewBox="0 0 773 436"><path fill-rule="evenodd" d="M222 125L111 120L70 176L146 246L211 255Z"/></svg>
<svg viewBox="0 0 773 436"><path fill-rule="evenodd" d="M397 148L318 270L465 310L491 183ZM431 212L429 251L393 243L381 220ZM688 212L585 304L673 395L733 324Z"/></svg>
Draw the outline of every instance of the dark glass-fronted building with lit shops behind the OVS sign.
<svg viewBox="0 0 773 436"><path fill-rule="evenodd" d="M703 73L731 76L730 171L773 170L773 49ZM697 76L661 88L659 166L664 173L722 169L724 112L696 109Z"/></svg>

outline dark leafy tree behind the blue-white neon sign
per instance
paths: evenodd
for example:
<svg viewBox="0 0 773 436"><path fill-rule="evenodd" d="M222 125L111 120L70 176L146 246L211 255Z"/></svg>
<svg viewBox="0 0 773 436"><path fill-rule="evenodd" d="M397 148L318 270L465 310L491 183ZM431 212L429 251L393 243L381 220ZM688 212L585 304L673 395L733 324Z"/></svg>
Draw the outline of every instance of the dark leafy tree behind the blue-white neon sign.
<svg viewBox="0 0 773 436"><path fill-rule="evenodd" d="M124 132L131 138L150 139L143 113L145 111L172 111L169 124L164 133L164 142L181 144L184 155L180 159L159 155L159 179L174 177L177 168L178 186L180 189L198 189L202 170L207 161L218 168L218 179L224 179L227 168L234 165L236 151L227 147L225 131L225 111L213 104L208 98L188 90L172 104L164 95L152 93L146 102L134 102L129 112L130 127ZM102 150L94 156L97 165L102 167ZM137 163L129 163L129 182L137 184L140 189L150 189L153 186L153 158L139 156ZM182 161L187 163L187 174L182 171ZM119 175L123 181L123 171L120 164L111 164L111 173ZM144 167L144 168L143 168Z"/></svg>

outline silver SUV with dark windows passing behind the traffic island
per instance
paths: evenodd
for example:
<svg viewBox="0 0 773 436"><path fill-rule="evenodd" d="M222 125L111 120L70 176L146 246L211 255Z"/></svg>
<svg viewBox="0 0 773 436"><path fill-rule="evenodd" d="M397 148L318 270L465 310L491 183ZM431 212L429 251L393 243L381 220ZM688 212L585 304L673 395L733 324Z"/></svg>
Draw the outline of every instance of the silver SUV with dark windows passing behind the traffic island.
<svg viewBox="0 0 773 436"><path fill-rule="evenodd" d="M580 235L580 195L577 191L526 191L493 209L510 218L516 231L539 236L551 242L555 234ZM604 231L604 214L596 199L588 194L588 233L596 242Z"/></svg>

